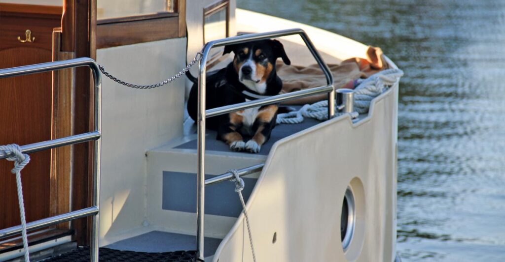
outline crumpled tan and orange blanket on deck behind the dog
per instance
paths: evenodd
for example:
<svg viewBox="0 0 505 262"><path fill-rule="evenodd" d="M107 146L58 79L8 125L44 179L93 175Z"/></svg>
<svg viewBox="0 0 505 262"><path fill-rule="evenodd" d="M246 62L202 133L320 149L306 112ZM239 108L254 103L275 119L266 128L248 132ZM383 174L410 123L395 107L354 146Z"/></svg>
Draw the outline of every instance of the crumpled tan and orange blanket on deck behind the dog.
<svg viewBox="0 0 505 262"><path fill-rule="evenodd" d="M317 64L304 66L285 65L279 62L277 74L282 79L281 94L302 89L316 88L326 85L326 77ZM387 69L382 50L379 47L369 46L367 58L353 57L342 61L340 64L329 64L333 74L333 84L335 89L354 89L354 82L359 78L367 78L370 75ZM305 105L327 99L326 94L316 95L285 102L287 105Z"/></svg>

